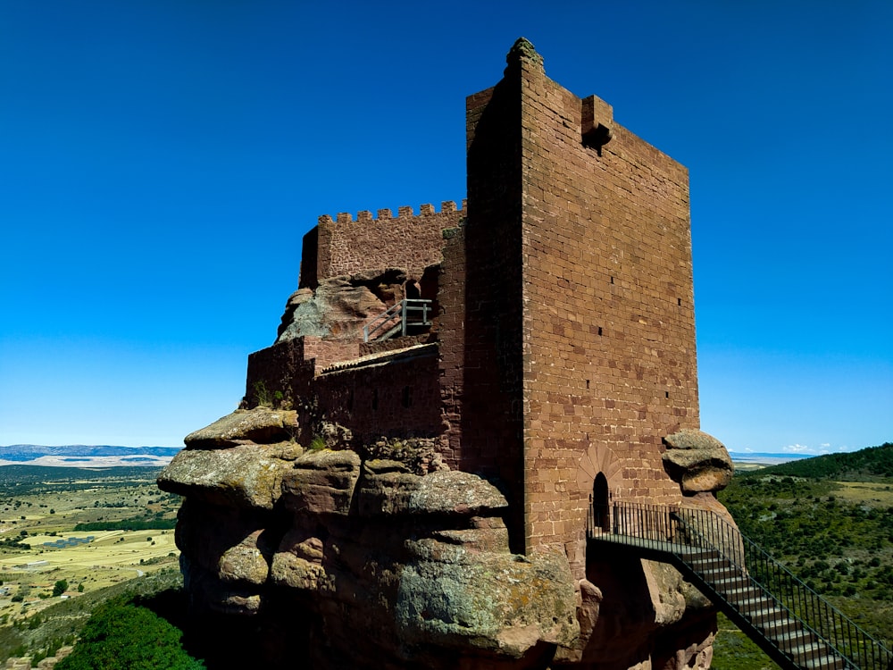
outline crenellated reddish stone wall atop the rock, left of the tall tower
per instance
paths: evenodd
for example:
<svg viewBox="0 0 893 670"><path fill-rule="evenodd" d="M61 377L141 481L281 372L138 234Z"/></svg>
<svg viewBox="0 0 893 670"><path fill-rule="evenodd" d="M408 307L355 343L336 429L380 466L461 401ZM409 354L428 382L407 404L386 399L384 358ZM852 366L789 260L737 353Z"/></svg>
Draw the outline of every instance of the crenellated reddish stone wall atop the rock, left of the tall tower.
<svg viewBox="0 0 893 670"><path fill-rule="evenodd" d="M363 210L356 219L346 212L335 218L323 214L304 238L300 286L313 289L329 277L394 267L421 278L426 267L440 262L443 230L455 228L467 206L465 200L461 208L445 200L439 212L425 204L419 214L412 206L398 207L396 216L390 209L376 216Z"/></svg>

